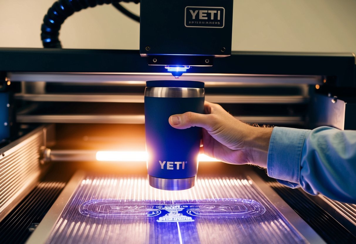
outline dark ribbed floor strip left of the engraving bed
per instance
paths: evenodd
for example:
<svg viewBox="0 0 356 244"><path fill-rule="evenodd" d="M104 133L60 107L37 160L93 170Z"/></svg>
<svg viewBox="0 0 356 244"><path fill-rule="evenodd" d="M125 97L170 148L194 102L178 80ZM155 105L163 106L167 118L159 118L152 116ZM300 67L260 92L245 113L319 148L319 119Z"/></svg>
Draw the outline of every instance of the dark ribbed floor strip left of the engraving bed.
<svg viewBox="0 0 356 244"><path fill-rule="evenodd" d="M1 243L25 243L62 191L64 182L41 182L0 222Z"/></svg>

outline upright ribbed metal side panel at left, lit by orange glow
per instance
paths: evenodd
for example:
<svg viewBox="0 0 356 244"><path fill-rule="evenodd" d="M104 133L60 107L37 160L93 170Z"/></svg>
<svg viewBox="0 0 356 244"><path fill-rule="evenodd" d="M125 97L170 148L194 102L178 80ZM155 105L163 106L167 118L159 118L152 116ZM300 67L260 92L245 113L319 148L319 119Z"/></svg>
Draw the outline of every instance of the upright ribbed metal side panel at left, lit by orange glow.
<svg viewBox="0 0 356 244"><path fill-rule="evenodd" d="M38 128L0 149L0 220L35 186L43 134Z"/></svg>

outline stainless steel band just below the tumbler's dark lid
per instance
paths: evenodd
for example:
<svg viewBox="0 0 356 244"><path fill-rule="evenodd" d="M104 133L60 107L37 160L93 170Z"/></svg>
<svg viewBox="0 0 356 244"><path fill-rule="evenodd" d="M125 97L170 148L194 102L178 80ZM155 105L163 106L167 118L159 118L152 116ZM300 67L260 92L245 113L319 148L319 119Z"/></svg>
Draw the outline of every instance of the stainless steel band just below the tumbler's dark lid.
<svg viewBox="0 0 356 244"><path fill-rule="evenodd" d="M146 87L145 97L204 97L204 88Z"/></svg>

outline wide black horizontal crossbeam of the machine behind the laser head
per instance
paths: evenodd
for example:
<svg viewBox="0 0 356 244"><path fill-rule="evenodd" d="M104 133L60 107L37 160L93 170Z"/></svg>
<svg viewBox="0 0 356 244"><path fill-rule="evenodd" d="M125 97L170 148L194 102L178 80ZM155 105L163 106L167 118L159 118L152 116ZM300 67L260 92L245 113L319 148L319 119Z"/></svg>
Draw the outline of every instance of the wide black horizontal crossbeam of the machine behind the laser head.
<svg viewBox="0 0 356 244"><path fill-rule="evenodd" d="M161 73L138 50L0 48L1 72ZM356 87L354 53L232 52L187 73L322 75L326 85Z"/></svg>

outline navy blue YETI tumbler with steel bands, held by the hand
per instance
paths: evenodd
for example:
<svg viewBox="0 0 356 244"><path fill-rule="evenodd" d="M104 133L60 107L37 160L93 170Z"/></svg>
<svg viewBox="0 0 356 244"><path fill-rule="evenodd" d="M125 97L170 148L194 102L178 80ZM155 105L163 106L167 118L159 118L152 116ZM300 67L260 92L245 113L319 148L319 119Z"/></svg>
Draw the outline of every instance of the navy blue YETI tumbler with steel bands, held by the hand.
<svg viewBox="0 0 356 244"><path fill-rule="evenodd" d="M145 131L151 186L162 190L194 186L201 128L176 129L168 118L188 111L203 113L204 95L204 83L199 81L147 81Z"/></svg>

